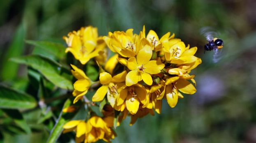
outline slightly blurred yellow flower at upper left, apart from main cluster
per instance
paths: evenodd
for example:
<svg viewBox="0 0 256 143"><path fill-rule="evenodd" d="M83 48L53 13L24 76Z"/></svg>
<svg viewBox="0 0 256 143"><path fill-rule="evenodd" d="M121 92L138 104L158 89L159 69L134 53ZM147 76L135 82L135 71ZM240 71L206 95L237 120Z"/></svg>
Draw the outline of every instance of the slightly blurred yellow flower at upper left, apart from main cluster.
<svg viewBox="0 0 256 143"><path fill-rule="evenodd" d="M63 36L63 39L68 46L65 52L71 52L83 65L105 48L105 43L98 38L97 28L92 26L81 27L78 31L70 32L68 37Z"/></svg>

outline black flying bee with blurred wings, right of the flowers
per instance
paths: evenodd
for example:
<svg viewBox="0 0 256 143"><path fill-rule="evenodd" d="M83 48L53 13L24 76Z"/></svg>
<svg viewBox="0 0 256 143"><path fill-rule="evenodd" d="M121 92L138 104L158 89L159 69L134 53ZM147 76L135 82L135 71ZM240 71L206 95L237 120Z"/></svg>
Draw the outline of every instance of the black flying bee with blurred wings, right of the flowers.
<svg viewBox="0 0 256 143"><path fill-rule="evenodd" d="M214 38L217 37L218 33L214 32L214 29L211 27L203 27L201 29L201 34L208 40L208 43L206 43L204 46L205 51L213 50L214 52L212 60L214 63L217 63L221 59L221 48L224 44L223 40Z"/></svg>

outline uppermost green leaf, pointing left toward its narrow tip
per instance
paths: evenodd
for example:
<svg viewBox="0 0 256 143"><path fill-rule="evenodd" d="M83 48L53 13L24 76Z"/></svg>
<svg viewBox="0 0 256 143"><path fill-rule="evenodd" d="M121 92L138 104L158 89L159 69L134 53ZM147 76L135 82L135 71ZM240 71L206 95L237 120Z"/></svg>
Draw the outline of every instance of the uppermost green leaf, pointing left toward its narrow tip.
<svg viewBox="0 0 256 143"><path fill-rule="evenodd" d="M50 41L34 41L34 40L26 40L26 43L30 45L34 45L36 48L38 47L38 48L44 49L59 59L65 56L66 47L60 43L50 42Z"/></svg>

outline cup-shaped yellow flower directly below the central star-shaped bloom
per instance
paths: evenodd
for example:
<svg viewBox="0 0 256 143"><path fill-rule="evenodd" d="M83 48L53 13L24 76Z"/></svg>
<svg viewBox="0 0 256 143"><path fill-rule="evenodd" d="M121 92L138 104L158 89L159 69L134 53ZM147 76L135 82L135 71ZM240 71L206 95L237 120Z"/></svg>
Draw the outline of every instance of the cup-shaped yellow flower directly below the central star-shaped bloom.
<svg viewBox="0 0 256 143"><path fill-rule="evenodd" d="M126 105L126 108L131 114L136 114L140 103L143 105L148 101L147 91L144 86L136 84L130 87L125 87L120 91L120 96L117 98L117 105Z"/></svg>

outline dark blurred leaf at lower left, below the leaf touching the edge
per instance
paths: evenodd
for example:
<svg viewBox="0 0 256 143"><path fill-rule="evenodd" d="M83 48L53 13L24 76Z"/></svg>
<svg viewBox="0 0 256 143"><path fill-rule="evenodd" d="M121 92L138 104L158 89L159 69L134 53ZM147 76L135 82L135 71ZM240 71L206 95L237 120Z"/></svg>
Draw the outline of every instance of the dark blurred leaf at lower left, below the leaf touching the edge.
<svg viewBox="0 0 256 143"><path fill-rule="evenodd" d="M27 122L24 120L22 114L17 109L2 109L5 114L7 114L10 118L14 120L16 125L21 127L27 134L31 133L30 127Z"/></svg>

